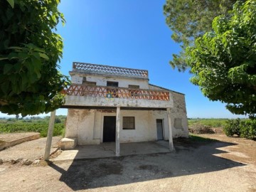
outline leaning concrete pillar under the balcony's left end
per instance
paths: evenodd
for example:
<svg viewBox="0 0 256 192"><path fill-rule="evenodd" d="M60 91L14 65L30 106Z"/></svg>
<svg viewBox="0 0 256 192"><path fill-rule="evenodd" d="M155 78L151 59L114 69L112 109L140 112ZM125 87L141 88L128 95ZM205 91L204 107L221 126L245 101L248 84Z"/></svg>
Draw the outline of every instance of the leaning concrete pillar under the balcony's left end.
<svg viewBox="0 0 256 192"><path fill-rule="evenodd" d="M50 112L50 122L49 122L48 134L47 134L47 140L46 140L46 151L44 156L44 160L46 161L50 159L50 146L53 140L53 127L54 127L54 121L55 121L55 113L56 113L55 110L53 112Z"/></svg>

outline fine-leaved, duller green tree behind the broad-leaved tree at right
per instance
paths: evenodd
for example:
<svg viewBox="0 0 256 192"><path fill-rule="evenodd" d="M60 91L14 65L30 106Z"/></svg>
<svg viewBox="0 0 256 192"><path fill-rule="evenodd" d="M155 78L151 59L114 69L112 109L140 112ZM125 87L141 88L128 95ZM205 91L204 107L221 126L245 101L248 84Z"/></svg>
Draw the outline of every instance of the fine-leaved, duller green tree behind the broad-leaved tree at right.
<svg viewBox="0 0 256 192"><path fill-rule="evenodd" d="M173 32L171 38L181 44L179 55L173 54L170 64L179 71L188 68L184 50L193 45L196 38L210 31L213 18L228 16L236 0L166 0L164 14Z"/></svg>

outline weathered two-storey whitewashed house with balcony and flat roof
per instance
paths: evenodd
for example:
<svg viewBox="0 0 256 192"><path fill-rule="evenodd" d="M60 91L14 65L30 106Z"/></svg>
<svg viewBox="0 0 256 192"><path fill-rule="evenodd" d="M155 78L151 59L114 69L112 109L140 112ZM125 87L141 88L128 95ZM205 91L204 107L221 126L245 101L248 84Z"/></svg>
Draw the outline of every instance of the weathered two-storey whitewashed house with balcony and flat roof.
<svg viewBox="0 0 256 192"><path fill-rule="evenodd" d="M147 70L73 63L63 148L188 137L185 97L149 84ZM171 139L169 139L171 138Z"/></svg>

